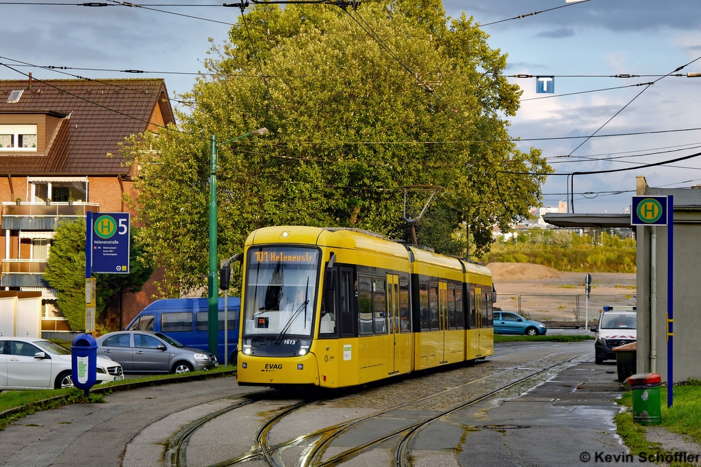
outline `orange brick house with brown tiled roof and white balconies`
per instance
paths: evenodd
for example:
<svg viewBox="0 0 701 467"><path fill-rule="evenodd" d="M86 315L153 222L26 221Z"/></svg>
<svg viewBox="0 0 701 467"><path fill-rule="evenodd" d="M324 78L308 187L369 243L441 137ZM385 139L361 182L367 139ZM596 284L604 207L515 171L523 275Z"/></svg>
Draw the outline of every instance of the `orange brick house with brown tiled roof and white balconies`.
<svg viewBox="0 0 701 467"><path fill-rule="evenodd" d="M130 211L136 167L119 144L174 122L161 78L0 81L0 290L41 292L43 332L69 330L41 276L55 226ZM125 323L152 301L153 280L125 295Z"/></svg>

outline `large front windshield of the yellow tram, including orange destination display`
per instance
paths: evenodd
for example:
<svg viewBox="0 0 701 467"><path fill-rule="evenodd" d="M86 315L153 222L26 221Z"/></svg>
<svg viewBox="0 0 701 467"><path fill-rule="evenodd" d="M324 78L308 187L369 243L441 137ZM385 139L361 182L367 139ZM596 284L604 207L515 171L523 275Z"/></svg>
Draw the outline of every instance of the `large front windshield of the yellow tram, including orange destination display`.
<svg viewBox="0 0 701 467"><path fill-rule="evenodd" d="M248 250L244 335L311 336L319 251L296 246Z"/></svg>

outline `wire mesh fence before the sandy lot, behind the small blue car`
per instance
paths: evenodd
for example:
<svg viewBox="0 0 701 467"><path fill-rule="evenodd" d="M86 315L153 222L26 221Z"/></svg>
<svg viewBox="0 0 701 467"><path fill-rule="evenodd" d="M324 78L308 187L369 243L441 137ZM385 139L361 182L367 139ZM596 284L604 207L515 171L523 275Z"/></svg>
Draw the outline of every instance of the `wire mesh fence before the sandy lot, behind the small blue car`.
<svg viewBox="0 0 701 467"><path fill-rule="evenodd" d="M605 306L634 307L636 295L589 295L589 323L596 326L599 311ZM497 293L494 309L517 312L526 319L540 321L548 327L583 327L587 295L522 295Z"/></svg>

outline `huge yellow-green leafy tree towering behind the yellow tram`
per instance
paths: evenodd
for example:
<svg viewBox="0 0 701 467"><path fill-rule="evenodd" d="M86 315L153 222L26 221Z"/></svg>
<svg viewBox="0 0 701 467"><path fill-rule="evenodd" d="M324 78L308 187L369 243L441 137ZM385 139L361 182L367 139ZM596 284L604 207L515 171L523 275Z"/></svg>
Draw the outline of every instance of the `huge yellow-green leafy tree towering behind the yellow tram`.
<svg viewBox="0 0 701 467"><path fill-rule="evenodd" d="M493 225L506 230L539 204L551 169L510 139L521 90L487 38L472 18L447 18L440 0L246 11L212 45L179 126L125 146L163 292L206 284L210 134L225 141L259 127L270 133L219 150L219 259L266 225L401 238L409 185L442 187L421 220L422 244L464 254L454 232L466 223L477 251L488 249Z"/></svg>

